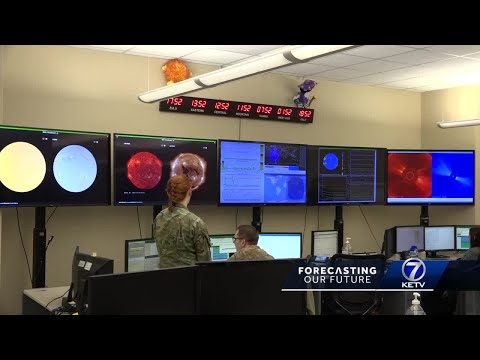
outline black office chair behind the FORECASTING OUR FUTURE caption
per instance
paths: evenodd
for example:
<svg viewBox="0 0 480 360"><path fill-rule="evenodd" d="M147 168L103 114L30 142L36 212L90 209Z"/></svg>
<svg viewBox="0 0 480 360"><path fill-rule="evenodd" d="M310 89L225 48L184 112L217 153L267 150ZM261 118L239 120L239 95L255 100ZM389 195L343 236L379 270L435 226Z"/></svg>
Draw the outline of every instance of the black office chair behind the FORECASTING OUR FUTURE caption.
<svg viewBox="0 0 480 360"><path fill-rule="evenodd" d="M372 283L380 281L385 272L384 255L335 254L328 266L375 266L377 273L370 275ZM361 286L361 284L359 284ZM338 287L338 285L337 285ZM322 314L327 315L370 315L377 313L382 305L382 296L377 291L324 291L322 292Z"/></svg>

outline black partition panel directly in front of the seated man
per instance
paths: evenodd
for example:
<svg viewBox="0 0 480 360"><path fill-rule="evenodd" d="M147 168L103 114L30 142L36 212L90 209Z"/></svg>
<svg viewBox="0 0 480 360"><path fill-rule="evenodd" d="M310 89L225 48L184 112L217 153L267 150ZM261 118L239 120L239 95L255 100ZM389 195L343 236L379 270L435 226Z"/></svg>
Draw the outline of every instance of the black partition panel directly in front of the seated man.
<svg viewBox="0 0 480 360"><path fill-rule="evenodd" d="M198 313L305 315L305 293L282 291L295 260L198 263Z"/></svg>

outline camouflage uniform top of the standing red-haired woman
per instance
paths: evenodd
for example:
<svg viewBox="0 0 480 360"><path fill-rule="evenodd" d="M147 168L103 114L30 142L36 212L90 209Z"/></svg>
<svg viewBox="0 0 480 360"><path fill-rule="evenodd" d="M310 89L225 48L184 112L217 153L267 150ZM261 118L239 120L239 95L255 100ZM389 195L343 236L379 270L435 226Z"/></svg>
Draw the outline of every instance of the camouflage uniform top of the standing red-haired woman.
<svg viewBox="0 0 480 360"><path fill-rule="evenodd" d="M157 215L154 236L161 268L211 260L207 226L182 204L175 204Z"/></svg>

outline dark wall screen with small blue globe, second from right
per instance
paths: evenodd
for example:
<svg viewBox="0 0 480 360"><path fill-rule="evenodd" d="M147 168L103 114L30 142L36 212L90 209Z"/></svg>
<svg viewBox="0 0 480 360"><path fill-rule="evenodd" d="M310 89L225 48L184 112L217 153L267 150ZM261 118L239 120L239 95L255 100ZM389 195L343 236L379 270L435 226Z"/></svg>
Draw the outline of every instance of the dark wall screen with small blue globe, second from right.
<svg viewBox="0 0 480 360"><path fill-rule="evenodd" d="M308 147L308 202L384 204L386 149Z"/></svg>

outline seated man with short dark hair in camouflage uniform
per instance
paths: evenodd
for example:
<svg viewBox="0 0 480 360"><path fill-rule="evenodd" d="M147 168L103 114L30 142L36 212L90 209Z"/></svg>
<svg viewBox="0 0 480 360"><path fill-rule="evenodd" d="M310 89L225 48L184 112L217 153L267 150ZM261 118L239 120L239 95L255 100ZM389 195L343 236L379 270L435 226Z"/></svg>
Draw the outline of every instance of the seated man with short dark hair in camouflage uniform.
<svg viewBox="0 0 480 360"><path fill-rule="evenodd" d="M231 260L273 260L273 256L258 245L258 231L251 225L240 225L233 236L237 252L230 256Z"/></svg>

